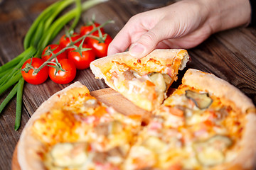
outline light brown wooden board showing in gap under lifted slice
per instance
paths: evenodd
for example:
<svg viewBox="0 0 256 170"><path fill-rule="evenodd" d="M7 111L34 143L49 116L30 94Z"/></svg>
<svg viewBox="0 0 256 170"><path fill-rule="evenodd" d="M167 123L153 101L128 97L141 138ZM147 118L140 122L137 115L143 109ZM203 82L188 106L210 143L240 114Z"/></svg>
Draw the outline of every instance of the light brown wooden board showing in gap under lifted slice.
<svg viewBox="0 0 256 170"><path fill-rule="evenodd" d="M144 115L144 118L147 118L149 116L148 111L144 111L142 108L134 106L132 102L128 101L121 94L117 93L117 91L114 91L110 88L91 91L90 94L92 96L95 96L97 100L101 101L102 103L105 103L107 106L112 106L119 113L123 113L125 115L137 113L140 115ZM21 170L17 159L17 145L14 149L12 158L12 170Z"/></svg>

